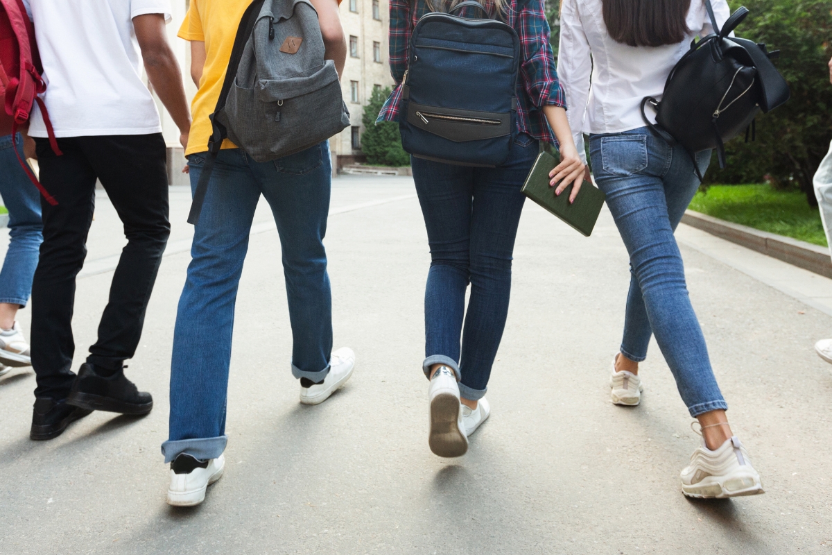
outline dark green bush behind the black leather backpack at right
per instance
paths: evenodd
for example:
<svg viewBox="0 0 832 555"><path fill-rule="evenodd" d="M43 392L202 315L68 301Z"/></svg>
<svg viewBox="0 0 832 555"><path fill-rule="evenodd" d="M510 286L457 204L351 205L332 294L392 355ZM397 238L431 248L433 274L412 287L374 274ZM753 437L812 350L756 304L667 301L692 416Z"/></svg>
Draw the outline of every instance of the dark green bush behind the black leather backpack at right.
<svg viewBox="0 0 832 555"><path fill-rule="evenodd" d="M800 189L815 206L812 176L832 139L832 3L830 0L730 0L750 14L737 35L779 49L775 65L789 83L791 99L757 117L757 140L726 144L728 167L716 157L706 183L759 183Z"/></svg>

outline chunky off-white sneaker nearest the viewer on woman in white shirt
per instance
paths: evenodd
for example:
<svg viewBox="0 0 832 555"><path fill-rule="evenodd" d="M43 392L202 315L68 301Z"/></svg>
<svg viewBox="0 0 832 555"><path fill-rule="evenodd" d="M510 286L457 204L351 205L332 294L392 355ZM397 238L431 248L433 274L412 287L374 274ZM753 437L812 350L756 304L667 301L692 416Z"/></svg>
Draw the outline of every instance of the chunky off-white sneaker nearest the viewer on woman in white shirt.
<svg viewBox="0 0 832 555"><path fill-rule="evenodd" d="M760 474L751 466L748 452L736 436L716 451L696 448L691 463L681 471L681 491L691 498L732 498L765 493Z"/></svg>

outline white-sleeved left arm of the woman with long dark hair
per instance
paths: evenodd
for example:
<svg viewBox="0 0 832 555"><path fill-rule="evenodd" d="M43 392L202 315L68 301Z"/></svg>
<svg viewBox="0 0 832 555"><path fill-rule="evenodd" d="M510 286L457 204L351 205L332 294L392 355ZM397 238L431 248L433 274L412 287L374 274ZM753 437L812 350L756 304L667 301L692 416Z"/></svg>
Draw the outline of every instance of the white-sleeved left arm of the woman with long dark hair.
<svg viewBox="0 0 832 555"><path fill-rule="evenodd" d="M562 4L561 37L557 52L557 78L563 86L569 107L567 119L572 128L572 140L578 156L586 162L582 129L589 98L592 58L575 0L564 0Z"/></svg>

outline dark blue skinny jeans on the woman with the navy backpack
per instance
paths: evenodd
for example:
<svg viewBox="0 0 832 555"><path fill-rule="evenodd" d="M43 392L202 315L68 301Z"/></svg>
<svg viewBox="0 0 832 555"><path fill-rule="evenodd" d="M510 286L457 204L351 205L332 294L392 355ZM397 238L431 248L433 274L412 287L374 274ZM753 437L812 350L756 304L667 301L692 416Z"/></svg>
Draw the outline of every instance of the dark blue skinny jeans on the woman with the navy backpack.
<svg viewBox="0 0 832 555"><path fill-rule="evenodd" d="M485 395L503 338L514 238L526 200L520 189L538 151L537 140L523 134L508 161L496 168L411 161L431 256L423 370L428 375L430 366L440 363L453 368L464 399Z"/></svg>

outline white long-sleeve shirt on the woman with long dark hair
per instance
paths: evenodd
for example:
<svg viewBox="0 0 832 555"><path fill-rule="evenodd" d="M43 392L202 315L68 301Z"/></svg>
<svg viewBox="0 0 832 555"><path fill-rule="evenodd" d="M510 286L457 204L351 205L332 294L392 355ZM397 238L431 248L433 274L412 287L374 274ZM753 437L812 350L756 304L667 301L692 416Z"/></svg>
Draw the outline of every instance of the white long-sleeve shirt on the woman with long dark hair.
<svg viewBox="0 0 832 555"><path fill-rule="evenodd" d="M711 0L711 5L721 26L730 16L728 3ZM691 0L686 21L688 35L678 44L631 47L610 37L602 0L563 0L557 77L566 92L569 125L582 157L583 133L618 133L645 125L641 100L661 100L667 76L691 41L714 32L703 0ZM646 113L655 123L655 113Z"/></svg>

